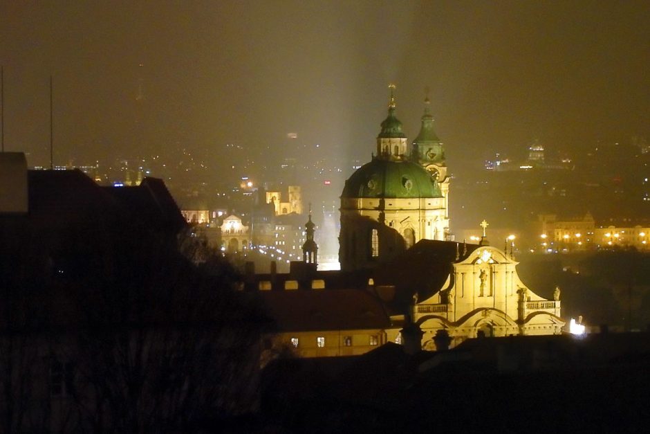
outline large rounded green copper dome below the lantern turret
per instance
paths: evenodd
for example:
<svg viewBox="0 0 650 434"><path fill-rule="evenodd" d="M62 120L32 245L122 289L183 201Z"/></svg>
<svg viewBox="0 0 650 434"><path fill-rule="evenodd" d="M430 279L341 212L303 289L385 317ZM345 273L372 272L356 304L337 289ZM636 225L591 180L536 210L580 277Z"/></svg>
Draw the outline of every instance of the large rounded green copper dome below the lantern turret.
<svg viewBox="0 0 650 434"><path fill-rule="evenodd" d="M345 181L344 198L417 199L443 197L440 186L422 166L409 161L373 159Z"/></svg>

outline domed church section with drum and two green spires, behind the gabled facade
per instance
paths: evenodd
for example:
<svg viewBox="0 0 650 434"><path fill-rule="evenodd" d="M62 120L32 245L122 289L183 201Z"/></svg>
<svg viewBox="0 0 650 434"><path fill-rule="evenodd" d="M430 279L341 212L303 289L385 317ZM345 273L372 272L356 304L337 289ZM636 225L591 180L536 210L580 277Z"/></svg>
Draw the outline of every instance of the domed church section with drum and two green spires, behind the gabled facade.
<svg viewBox="0 0 650 434"><path fill-rule="evenodd" d="M339 237L344 271L387 262L420 239L449 238L449 178L429 109L411 150L395 111L391 93L377 154L345 182Z"/></svg>

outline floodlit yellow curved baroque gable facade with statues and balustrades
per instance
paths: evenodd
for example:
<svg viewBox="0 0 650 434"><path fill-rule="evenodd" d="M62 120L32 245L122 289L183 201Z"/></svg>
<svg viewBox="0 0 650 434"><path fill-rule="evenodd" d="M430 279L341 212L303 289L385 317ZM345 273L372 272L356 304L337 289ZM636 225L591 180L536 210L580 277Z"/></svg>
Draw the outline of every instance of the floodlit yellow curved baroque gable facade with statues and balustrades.
<svg viewBox="0 0 650 434"><path fill-rule="evenodd" d="M510 255L492 246L472 246L449 264L449 275L432 295L416 300L412 318L423 330L423 347L433 347L438 330L458 344L466 338L560 334L560 301L533 292L517 275Z"/></svg>

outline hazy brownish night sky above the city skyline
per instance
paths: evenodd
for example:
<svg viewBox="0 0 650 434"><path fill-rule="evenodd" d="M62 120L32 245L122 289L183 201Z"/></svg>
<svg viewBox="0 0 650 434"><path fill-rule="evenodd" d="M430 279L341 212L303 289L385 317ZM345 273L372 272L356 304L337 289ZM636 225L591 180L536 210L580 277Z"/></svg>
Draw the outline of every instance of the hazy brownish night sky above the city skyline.
<svg viewBox="0 0 650 434"><path fill-rule="evenodd" d="M389 82L409 139L430 88L450 165L650 139L649 23L647 0L0 0L5 145L47 163L50 74L59 163L288 132L367 161Z"/></svg>

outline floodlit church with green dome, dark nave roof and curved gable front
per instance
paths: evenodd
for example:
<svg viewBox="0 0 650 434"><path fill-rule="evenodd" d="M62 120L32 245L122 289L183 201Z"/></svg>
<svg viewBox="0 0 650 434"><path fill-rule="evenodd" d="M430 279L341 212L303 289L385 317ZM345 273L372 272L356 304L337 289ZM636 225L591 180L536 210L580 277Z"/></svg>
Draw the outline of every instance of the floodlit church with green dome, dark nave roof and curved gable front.
<svg viewBox="0 0 650 434"><path fill-rule="evenodd" d="M452 343L476 336L559 334L559 295L546 300L517 275L512 252L449 236L445 147L425 100L420 132L409 147L391 86L376 155L346 181L341 195L342 271L372 269L372 290L393 323L423 332L423 347L444 330ZM387 341L400 340L400 327Z"/></svg>

